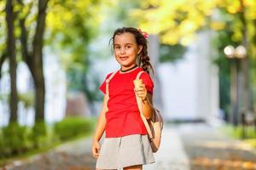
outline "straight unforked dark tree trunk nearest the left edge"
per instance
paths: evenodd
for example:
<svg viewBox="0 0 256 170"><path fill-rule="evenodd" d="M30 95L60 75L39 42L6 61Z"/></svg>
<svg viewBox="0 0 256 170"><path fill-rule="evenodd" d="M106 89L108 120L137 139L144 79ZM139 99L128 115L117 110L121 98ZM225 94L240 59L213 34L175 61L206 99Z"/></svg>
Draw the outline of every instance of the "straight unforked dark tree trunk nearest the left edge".
<svg viewBox="0 0 256 170"><path fill-rule="evenodd" d="M7 54L9 57L9 74L11 82L11 93L9 98L10 122L17 122L18 94L16 87L16 56L15 56L15 13L12 0L6 3L6 22L8 27Z"/></svg>

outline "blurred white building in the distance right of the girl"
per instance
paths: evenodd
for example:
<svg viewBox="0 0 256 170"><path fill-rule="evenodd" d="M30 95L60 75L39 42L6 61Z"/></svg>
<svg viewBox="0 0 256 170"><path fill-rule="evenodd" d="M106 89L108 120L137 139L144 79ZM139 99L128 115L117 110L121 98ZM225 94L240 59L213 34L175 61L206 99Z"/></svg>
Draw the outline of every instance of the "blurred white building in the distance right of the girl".
<svg viewBox="0 0 256 170"><path fill-rule="evenodd" d="M218 67L210 39L209 32L199 33L183 59L157 66L166 119L218 122Z"/></svg>

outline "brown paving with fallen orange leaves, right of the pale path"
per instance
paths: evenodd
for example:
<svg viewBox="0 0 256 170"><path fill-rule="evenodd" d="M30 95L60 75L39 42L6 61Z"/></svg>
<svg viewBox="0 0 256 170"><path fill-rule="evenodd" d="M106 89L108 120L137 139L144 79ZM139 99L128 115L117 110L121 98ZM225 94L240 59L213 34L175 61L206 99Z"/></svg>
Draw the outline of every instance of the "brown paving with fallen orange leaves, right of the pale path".
<svg viewBox="0 0 256 170"><path fill-rule="evenodd" d="M190 169L256 169L256 150L205 124L175 127L189 156Z"/></svg>

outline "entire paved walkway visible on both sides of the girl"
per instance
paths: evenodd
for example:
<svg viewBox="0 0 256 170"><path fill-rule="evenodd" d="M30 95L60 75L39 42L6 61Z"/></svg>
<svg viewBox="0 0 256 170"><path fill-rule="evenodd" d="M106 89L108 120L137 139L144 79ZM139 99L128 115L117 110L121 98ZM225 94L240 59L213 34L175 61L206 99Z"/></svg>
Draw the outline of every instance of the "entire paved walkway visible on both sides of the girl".
<svg viewBox="0 0 256 170"><path fill-rule="evenodd" d="M90 170L91 139L62 144L38 156L15 161L0 170ZM256 151L229 139L206 124L165 126L156 162L145 170L243 170L256 169Z"/></svg>

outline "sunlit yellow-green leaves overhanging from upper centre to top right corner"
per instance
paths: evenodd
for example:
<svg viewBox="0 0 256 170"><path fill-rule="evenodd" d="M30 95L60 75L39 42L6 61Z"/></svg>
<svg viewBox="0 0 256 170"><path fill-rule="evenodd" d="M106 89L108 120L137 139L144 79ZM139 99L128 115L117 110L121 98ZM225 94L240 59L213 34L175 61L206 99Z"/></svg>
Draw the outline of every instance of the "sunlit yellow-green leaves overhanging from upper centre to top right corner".
<svg viewBox="0 0 256 170"><path fill-rule="evenodd" d="M234 31L232 40L241 41L241 21L237 18L241 9L246 9L248 33L255 32L256 19L255 1L143 1L141 8L133 11L133 16L139 19L140 27L152 34L160 34L163 43L188 45L193 42L196 31L204 27L221 30L231 27ZM229 23L227 25L226 23ZM250 36L249 36L250 37ZM252 36L251 36L252 37Z"/></svg>

